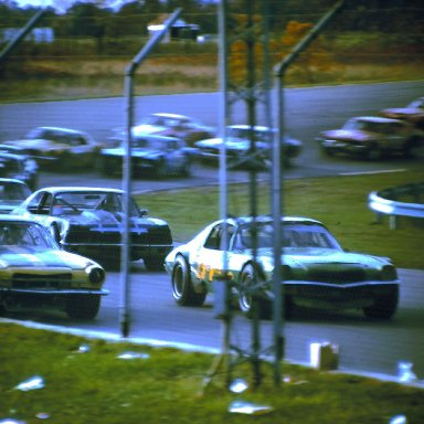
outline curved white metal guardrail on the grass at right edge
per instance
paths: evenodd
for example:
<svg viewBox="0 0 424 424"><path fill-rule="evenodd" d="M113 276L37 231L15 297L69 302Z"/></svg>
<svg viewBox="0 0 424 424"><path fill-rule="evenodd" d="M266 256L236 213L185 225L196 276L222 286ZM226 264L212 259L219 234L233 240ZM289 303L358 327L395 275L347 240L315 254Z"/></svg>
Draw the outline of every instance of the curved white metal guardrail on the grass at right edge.
<svg viewBox="0 0 424 424"><path fill-rule="evenodd" d="M378 222L389 215L390 229L398 226L398 216L424 218L424 181L373 191L368 197L368 206L377 212ZM412 202L399 201L411 198Z"/></svg>

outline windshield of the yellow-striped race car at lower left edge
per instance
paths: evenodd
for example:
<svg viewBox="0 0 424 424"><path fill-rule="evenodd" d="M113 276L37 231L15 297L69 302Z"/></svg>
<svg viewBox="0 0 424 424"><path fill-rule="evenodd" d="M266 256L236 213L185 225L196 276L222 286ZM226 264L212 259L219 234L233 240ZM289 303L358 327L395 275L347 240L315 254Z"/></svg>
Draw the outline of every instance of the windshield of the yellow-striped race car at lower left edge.
<svg viewBox="0 0 424 424"><path fill-rule="evenodd" d="M28 222L0 223L0 245L59 248L47 231Z"/></svg>

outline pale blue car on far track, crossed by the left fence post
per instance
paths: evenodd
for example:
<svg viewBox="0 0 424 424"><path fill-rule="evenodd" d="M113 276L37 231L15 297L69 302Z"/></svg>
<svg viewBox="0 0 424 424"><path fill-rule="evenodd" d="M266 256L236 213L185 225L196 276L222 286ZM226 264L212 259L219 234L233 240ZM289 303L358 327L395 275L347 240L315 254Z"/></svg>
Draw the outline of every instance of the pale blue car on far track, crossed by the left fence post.
<svg viewBox="0 0 424 424"><path fill-rule="evenodd" d="M98 168L103 174L123 173L125 146L125 141L121 141L118 147L100 150ZM173 174L189 176L192 159L192 153L182 139L155 135L132 136L131 168L134 176L146 172L158 178Z"/></svg>

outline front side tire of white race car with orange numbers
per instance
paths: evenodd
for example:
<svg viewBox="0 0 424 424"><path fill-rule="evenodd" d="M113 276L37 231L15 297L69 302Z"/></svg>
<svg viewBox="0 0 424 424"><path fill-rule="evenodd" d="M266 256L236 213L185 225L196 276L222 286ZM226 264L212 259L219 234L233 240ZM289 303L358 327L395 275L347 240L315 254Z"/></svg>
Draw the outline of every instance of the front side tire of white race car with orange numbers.
<svg viewBox="0 0 424 424"><path fill-rule="evenodd" d="M240 310L247 317L253 318L253 298L251 294L251 286L256 282L257 273L253 265L248 264L244 267L240 276L240 292L239 292L239 307ZM256 306L259 308L259 319L271 319L273 316L272 303L269 300L257 298Z"/></svg>

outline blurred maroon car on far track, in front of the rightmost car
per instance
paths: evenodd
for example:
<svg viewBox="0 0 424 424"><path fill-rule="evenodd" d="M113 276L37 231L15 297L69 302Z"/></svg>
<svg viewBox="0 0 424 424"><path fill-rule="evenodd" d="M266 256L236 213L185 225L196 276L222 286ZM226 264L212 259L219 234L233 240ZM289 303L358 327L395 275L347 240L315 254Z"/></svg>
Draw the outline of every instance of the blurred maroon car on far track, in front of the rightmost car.
<svg viewBox="0 0 424 424"><path fill-rule="evenodd" d="M329 156L343 153L379 160L385 155L421 155L423 136L404 120L360 116L350 118L340 129L320 132L317 141Z"/></svg>

